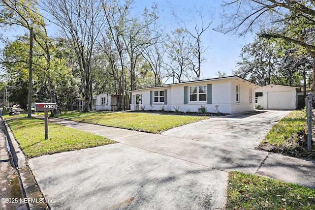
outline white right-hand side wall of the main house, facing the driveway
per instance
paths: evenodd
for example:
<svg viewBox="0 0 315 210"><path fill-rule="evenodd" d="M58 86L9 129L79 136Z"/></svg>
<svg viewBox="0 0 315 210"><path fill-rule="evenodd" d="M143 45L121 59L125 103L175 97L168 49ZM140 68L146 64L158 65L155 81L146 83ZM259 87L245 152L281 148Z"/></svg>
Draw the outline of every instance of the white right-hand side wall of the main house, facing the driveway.
<svg viewBox="0 0 315 210"><path fill-rule="evenodd" d="M236 86L239 87L239 101L236 101ZM251 95L250 95L251 91ZM251 100L250 100L251 96ZM231 114L255 110L255 89L249 82L231 82Z"/></svg>

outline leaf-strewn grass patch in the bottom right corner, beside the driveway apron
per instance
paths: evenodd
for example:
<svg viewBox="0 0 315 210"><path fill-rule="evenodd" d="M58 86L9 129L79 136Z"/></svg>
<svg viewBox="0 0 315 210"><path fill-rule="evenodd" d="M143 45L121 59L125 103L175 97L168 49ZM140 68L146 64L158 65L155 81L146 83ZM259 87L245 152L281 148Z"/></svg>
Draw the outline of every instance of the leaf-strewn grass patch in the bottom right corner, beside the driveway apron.
<svg viewBox="0 0 315 210"><path fill-rule="evenodd" d="M233 171L228 178L226 209L314 210L315 189Z"/></svg>

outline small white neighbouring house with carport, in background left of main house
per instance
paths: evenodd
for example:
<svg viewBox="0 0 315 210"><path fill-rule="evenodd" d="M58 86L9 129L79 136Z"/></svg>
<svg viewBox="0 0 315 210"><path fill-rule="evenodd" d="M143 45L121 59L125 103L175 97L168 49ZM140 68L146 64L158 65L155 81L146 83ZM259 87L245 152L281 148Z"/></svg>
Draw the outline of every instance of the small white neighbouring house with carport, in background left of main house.
<svg viewBox="0 0 315 210"><path fill-rule="evenodd" d="M78 110L83 111L85 106L85 98L76 98L78 100ZM109 93L101 93L93 96L92 110L118 110L119 95Z"/></svg>

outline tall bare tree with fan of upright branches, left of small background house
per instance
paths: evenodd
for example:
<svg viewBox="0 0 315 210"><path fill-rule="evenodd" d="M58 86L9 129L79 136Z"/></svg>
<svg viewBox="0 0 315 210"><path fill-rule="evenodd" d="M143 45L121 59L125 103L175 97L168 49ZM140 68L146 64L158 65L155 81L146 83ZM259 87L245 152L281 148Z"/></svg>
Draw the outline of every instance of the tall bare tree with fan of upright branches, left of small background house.
<svg viewBox="0 0 315 210"><path fill-rule="evenodd" d="M85 91L85 111L89 112L93 98L91 61L95 42L104 26L102 4L99 0L47 0L44 9L55 18L62 34L71 40Z"/></svg>

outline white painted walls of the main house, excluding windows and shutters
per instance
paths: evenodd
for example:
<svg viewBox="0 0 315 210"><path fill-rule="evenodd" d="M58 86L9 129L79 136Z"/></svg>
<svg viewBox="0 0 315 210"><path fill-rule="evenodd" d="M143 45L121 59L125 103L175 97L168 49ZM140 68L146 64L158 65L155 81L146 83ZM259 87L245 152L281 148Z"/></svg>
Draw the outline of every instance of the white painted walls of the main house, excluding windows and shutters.
<svg viewBox="0 0 315 210"><path fill-rule="evenodd" d="M238 81L240 81L238 83ZM208 81L189 82L182 84L166 85L165 87L148 88L142 90L133 90L131 93L132 103L130 105L131 111L136 110L136 95L142 95L142 104L140 107L145 107L144 110L158 110L164 107L167 111L175 111L179 109L180 112L198 112L201 106L207 108L207 112L216 113L216 106L219 105L218 110L221 113L233 114L238 112L245 112L255 110L255 89L254 84L250 82L243 82L245 80L238 77L219 78ZM208 104L207 101L190 102L189 101L189 87L192 86L207 86L212 84L212 103ZM240 87L240 101L236 101L236 85ZM184 87L188 88L188 104L184 104ZM207 87L208 88L208 87ZM250 102L250 89L252 89L252 101ZM150 91L167 90L167 104L155 103L152 99L150 104ZM209 90L207 90L207 93ZM154 96L153 96L154 97Z"/></svg>

